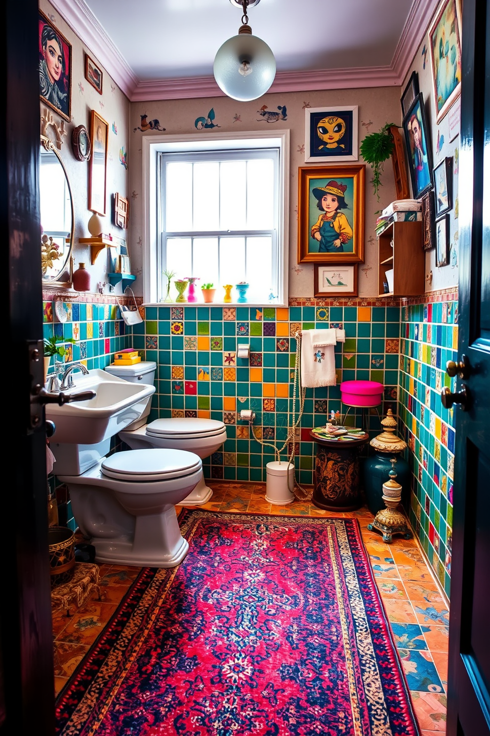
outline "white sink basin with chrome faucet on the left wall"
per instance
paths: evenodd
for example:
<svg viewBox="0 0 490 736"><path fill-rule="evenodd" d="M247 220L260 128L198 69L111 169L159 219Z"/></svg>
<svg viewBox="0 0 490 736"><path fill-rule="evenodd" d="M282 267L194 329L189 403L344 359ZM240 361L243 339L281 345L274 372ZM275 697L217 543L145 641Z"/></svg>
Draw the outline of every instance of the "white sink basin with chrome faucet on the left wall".
<svg viewBox="0 0 490 736"><path fill-rule="evenodd" d="M79 371L72 375L75 386L65 393L91 389L96 397L64 406L46 405L46 419L56 425L52 442L95 445L109 439L143 414L155 392L155 387L148 383L129 383L99 369L89 371L88 375Z"/></svg>

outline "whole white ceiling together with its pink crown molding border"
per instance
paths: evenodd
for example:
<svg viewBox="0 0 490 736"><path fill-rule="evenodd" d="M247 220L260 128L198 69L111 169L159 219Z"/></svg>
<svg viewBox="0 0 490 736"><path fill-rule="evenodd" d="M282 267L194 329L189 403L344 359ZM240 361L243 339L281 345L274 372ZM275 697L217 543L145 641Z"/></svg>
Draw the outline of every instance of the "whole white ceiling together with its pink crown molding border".
<svg viewBox="0 0 490 736"><path fill-rule="evenodd" d="M217 49L230 0L51 0L131 101L222 94ZM273 50L274 91L401 85L439 0L260 0L253 34Z"/></svg>

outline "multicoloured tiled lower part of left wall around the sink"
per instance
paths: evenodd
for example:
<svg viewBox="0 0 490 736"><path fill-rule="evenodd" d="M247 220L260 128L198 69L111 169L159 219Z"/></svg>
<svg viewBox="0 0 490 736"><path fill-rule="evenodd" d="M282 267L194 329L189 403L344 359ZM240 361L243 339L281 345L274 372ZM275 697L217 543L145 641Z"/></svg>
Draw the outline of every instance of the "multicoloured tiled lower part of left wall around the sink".
<svg viewBox="0 0 490 736"><path fill-rule="evenodd" d="M107 294L79 294L76 301L65 302L61 296L59 300L53 300L51 294L46 292L43 298L43 336L75 341L65 343L65 363L84 361L89 370L103 369L112 362L116 350L131 344L131 334L128 334L128 328L120 319L114 297ZM91 301L82 301L84 298ZM123 298L123 301L126 299ZM60 322L57 313L65 321ZM51 358L48 375L53 370L54 358ZM113 447L116 447L116 442L114 439ZM68 524L74 531L76 523L65 486L60 485L54 475L49 477L49 485L51 491L55 490L57 494L60 523Z"/></svg>

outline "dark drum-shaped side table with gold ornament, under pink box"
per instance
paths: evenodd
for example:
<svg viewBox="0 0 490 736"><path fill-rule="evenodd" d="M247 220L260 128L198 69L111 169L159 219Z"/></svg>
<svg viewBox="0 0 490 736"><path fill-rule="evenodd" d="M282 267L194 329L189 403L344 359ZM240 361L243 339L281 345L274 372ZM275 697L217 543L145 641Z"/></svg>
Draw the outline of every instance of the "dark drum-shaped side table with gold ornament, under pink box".
<svg viewBox="0 0 490 736"><path fill-rule="evenodd" d="M359 439L323 439L313 432L317 458L313 475L312 501L319 509L356 511L363 504L359 484L359 453L369 440L364 433Z"/></svg>

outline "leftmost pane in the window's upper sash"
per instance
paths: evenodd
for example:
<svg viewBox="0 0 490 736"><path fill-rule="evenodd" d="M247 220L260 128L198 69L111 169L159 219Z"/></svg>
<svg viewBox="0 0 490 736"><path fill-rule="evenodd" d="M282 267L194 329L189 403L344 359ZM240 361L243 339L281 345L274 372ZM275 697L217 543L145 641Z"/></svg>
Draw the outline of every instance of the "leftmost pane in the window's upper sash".
<svg viewBox="0 0 490 736"><path fill-rule="evenodd" d="M192 230L192 163L167 163L165 230Z"/></svg>

